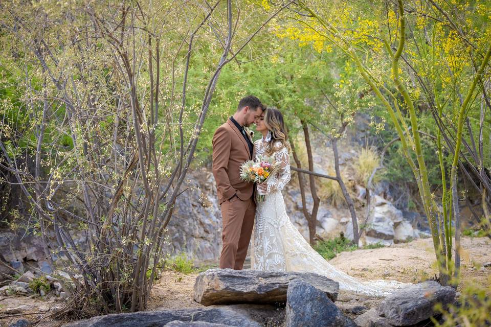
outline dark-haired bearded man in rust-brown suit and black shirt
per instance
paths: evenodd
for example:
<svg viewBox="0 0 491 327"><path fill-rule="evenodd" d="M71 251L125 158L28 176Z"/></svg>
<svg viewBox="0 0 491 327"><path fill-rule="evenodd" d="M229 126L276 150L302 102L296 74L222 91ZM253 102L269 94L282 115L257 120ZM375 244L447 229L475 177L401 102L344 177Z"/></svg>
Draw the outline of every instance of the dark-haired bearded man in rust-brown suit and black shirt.
<svg viewBox="0 0 491 327"><path fill-rule="evenodd" d="M220 268L241 270L251 240L256 213L254 184L240 180L239 171L245 161L254 157L254 143L244 126L255 123L261 113L261 101L247 96L213 135L213 175L223 221Z"/></svg>

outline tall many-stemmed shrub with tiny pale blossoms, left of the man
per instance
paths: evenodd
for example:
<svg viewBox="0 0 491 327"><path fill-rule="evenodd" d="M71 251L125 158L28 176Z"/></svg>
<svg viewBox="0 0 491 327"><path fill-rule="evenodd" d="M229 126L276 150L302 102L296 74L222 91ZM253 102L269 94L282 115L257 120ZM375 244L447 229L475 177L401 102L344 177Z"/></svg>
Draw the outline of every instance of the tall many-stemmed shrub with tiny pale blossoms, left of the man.
<svg viewBox="0 0 491 327"><path fill-rule="evenodd" d="M229 43L235 35L232 23L200 28L232 13L231 2L211 11L194 1L186 10L176 2L127 5L22 2L0 10L0 42L10 44L0 49L0 161L11 174L0 183L17 185L26 199L28 212L18 216L29 225L21 227L43 238L47 254L65 253L64 268L81 276L70 303L78 318L146 308L227 63L229 48L207 35L219 31ZM145 18L126 18L135 15ZM2 218L12 212L6 202ZM188 271L186 263L175 265Z"/></svg>

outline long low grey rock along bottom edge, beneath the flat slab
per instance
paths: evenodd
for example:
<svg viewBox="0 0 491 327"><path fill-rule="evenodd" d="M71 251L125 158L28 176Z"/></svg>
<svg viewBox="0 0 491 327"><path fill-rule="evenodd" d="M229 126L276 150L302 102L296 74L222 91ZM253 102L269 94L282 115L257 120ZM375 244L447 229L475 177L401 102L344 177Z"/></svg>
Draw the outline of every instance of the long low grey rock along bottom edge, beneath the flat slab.
<svg viewBox="0 0 491 327"><path fill-rule="evenodd" d="M275 307L239 305L200 309L142 311L97 316L65 324L64 327L163 327L169 322L203 321L227 323L237 327L261 327L268 316L275 314Z"/></svg>

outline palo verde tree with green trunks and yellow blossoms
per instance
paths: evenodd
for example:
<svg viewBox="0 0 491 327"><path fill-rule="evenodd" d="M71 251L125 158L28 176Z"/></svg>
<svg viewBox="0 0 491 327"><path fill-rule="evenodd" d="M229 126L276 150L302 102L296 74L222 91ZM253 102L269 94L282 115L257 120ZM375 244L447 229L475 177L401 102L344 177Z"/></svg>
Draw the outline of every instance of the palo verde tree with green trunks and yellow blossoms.
<svg viewBox="0 0 491 327"><path fill-rule="evenodd" d="M487 96L491 45L486 41L491 34L486 18L490 12L484 2L398 0L364 6L299 0L284 27L285 37L301 45L346 55L387 110L418 185L443 284L459 273L459 167L483 191L488 218L486 194L491 184L485 161L491 149L484 139L485 112L491 109ZM422 153L421 127L428 119L437 126L431 136L439 156L441 206ZM479 131L478 137L473 130Z"/></svg>

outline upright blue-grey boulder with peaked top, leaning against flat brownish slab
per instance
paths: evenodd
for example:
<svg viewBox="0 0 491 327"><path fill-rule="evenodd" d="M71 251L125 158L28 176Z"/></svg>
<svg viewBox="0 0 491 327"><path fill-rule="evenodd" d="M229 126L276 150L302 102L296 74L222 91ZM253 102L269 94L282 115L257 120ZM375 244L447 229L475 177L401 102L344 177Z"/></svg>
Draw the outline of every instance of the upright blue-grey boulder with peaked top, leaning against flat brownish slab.
<svg viewBox="0 0 491 327"><path fill-rule="evenodd" d="M325 292L301 279L290 282L286 300L285 327L354 327Z"/></svg>

